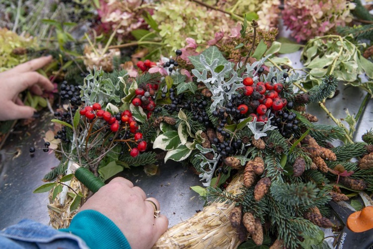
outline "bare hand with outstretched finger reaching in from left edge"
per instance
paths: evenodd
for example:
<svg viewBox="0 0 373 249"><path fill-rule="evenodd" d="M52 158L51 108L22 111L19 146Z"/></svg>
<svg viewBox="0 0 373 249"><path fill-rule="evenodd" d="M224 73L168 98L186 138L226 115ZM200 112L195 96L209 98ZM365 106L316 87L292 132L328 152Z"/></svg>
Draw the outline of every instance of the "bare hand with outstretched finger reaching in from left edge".
<svg viewBox="0 0 373 249"><path fill-rule="evenodd" d="M0 121L31 118L36 110L24 106L19 99L26 90L42 95L43 90L53 91L53 84L35 70L50 63L52 56L41 57L0 73Z"/></svg>

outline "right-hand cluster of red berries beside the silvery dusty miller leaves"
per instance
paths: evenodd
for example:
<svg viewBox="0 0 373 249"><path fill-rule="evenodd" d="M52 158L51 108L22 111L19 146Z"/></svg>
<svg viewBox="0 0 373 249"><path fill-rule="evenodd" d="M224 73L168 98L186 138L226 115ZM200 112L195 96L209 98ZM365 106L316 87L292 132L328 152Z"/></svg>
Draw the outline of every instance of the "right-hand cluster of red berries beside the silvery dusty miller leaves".
<svg viewBox="0 0 373 249"><path fill-rule="evenodd" d="M266 122L268 120L266 113L269 109L273 111L280 111L286 106L286 99L280 98L279 93L282 91L283 86L281 83L271 82L258 82L254 84L251 77L247 77L243 80L245 87L243 88L243 94L245 96L253 96L253 99L259 101L259 105L256 107L256 113L251 113L249 117L257 118L258 122ZM247 114L249 107L245 104L241 104L237 107L240 114Z"/></svg>

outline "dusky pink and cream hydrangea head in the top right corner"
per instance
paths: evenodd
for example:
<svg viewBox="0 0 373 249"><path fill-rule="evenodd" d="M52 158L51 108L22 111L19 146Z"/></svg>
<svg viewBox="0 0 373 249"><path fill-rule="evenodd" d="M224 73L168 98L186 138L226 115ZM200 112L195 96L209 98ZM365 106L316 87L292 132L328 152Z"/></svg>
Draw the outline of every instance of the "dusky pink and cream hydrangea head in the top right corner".
<svg viewBox="0 0 373 249"><path fill-rule="evenodd" d="M287 0L282 10L283 24L298 42L309 40L351 22L350 10L354 7L348 0Z"/></svg>

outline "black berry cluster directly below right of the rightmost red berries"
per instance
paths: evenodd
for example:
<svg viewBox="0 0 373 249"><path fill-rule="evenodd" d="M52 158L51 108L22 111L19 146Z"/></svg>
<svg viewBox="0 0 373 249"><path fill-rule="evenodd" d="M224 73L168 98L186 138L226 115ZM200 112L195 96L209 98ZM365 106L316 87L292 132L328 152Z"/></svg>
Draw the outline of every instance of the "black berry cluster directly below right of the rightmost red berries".
<svg viewBox="0 0 373 249"><path fill-rule="evenodd" d="M273 117L271 124L277 126L282 136L289 138L294 135L294 132L298 131L298 120L296 114L289 111L293 107L292 102L288 102L286 108L278 111L276 114L271 113L270 117Z"/></svg>

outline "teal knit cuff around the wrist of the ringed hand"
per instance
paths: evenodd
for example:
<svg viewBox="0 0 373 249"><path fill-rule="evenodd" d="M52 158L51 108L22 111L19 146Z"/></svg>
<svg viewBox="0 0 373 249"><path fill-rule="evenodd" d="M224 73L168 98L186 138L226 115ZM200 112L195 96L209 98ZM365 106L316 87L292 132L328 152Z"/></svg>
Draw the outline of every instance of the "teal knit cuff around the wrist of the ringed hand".
<svg viewBox="0 0 373 249"><path fill-rule="evenodd" d="M70 227L60 229L79 236L92 249L131 249L126 237L106 216L94 210L79 212Z"/></svg>

